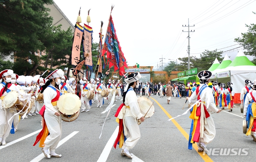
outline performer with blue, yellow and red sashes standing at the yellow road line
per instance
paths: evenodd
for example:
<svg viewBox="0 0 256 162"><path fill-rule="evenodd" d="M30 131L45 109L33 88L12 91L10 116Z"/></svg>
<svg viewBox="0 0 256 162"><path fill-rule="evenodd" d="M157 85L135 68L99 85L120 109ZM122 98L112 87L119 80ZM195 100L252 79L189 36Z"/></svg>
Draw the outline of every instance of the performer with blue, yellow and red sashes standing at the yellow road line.
<svg viewBox="0 0 256 162"><path fill-rule="evenodd" d="M206 145L210 144L215 137L215 125L210 111L219 113L220 110L216 108L214 103L212 88L208 87L212 73L205 70L200 71L197 76L200 79L200 86L196 88L196 91L190 97L187 97L188 102L191 104L198 102L193 107L190 115L192 123L188 149L192 150L192 144L197 142L199 146L198 152L208 152Z"/></svg>

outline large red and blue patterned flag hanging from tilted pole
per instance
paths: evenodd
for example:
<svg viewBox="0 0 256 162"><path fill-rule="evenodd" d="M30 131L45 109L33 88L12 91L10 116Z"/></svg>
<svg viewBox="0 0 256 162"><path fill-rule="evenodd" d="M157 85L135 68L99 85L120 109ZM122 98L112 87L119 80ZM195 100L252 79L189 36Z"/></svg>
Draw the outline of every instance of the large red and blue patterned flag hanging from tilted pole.
<svg viewBox="0 0 256 162"><path fill-rule="evenodd" d="M105 43L102 48L102 54L107 52L107 61L109 62L109 68L114 66L114 71L119 70L120 75L124 75L124 67L128 68L126 64L126 59L121 50L121 46L117 39L116 29L114 28L114 23L112 20L112 10L114 6L111 6L110 18L108 22L107 32L105 36Z"/></svg>

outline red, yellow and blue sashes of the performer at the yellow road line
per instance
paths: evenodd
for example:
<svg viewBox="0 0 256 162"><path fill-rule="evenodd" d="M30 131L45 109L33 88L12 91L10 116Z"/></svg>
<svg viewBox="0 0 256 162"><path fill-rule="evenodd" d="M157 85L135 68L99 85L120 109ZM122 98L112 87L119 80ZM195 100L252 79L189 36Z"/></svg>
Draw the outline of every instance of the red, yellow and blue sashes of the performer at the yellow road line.
<svg viewBox="0 0 256 162"><path fill-rule="evenodd" d="M200 88L200 93L197 96L197 100L200 99L200 95L206 87L208 87L208 86L203 85L202 87L199 86L196 88L197 95L199 93L199 88ZM188 139L188 149L190 149L190 150L192 150L193 143L199 142L199 138L200 138L201 104L203 104L203 103L200 103L199 106L197 106L197 104L196 104L191 109L192 113L190 115L190 118L192 119L192 122L191 122L190 134L189 134L189 139ZM206 118L208 118L210 115L209 115L208 111L206 110L206 106L203 105L203 107L204 107L204 112L205 112Z"/></svg>

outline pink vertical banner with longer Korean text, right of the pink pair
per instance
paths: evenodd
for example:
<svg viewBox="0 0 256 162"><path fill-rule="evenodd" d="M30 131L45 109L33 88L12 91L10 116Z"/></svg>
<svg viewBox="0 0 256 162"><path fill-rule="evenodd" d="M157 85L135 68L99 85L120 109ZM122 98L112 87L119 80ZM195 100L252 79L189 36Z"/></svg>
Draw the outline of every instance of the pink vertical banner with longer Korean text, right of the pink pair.
<svg viewBox="0 0 256 162"><path fill-rule="evenodd" d="M85 59L85 65L87 65L90 70L92 71L92 28L89 27L88 25L84 24L84 41L83 41L83 46L84 46L84 57Z"/></svg>

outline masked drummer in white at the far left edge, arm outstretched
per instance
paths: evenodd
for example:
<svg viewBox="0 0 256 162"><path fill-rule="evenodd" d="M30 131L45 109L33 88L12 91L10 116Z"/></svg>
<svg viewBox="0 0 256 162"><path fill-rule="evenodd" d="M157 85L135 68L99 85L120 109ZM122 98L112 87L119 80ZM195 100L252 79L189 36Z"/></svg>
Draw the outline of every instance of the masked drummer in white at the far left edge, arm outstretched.
<svg viewBox="0 0 256 162"><path fill-rule="evenodd" d="M6 145L6 138L10 134L11 125L13 122L12 116L15 114L15 106L11 109L4 108L2 106L2 99L11 91L17 91L19 93L18 98L34 96L34 93L27 94L19 91L19 89L11 83L11 75L13 71L6 69L0 72L0 143ZM10 120L10 121L9 121Z"/></svg>

